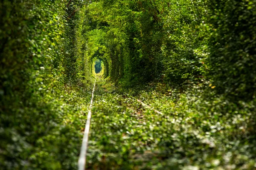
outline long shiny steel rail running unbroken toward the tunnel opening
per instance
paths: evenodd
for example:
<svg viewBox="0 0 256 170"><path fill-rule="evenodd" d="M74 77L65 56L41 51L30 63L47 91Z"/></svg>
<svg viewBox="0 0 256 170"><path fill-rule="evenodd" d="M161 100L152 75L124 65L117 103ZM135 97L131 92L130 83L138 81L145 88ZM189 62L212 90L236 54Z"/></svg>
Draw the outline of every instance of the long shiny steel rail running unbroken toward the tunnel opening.
<svg viewBox="0 0 256 170"><path fill-rule="evenodd" d="M87 120L85 124L85 129L84 129L83 142L82 142L81 151L80 151L79 160L78 160L78 170L85 170L85 166L86 166L86 154L87 154L87 146L88 146L88 139L89 139L90 119L92 116L93 94L94 94L95 85L96 85L96 75L95 75L95 82L93 86L92 98L90 101L89 111L87 114Z"/></svg>

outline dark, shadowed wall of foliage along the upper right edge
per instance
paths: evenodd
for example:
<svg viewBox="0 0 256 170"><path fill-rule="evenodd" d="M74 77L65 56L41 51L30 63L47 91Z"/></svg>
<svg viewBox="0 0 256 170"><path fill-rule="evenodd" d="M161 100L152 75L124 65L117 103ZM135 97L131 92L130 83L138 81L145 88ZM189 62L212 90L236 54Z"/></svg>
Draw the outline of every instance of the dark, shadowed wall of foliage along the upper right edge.
<svg viewBox="0 0 256 170"><path fill-rule="evenodd" d="M256 93L256 1L209 1L209 77L216 91L251 100Z"/></svg>

